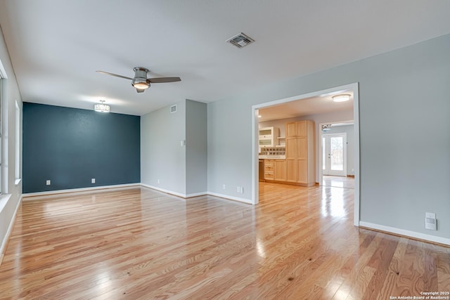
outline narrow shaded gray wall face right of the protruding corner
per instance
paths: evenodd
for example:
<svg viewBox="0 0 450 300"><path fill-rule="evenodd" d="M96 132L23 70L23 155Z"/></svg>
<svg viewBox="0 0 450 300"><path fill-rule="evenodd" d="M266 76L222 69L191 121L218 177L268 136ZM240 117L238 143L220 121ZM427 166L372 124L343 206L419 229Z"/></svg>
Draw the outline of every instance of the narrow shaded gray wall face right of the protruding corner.
<svg viewBox="0 0 450 300"><path fill-rule="evenodd" d="M186 194L207 190L207 105L186 100Z"/></svg>

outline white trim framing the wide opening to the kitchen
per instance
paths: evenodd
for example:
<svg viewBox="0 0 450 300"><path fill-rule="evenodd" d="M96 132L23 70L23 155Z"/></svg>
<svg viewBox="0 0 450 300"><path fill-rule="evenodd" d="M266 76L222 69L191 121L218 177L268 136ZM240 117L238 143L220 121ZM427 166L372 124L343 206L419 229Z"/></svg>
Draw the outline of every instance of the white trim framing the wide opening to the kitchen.
<svg viewBox="0 0 450 300"><path fill-rule="evenodd" d="M359 206L360 206L360 167L359 167L359 84L355 82L353 84L347 84L344 86L336 86L331 89L324 89L321 91L315 91L312 93L305 93L298 96L289 98L278 99L269 101L266 103L252 105L252 204L259 203L259 179L258 179L258 111L259 108L270 107L288 103L295 100L301 100L304 98L324 96L330 93L341 93L344 91L353 91L353 120L354 120L354 226L359 226ZM321 133L319 133L321 138ZM319 143L321 145L321 143ZM320 147L320 146L319 146ZM319 174L321 172L321 164L319 164Z"/></svg>

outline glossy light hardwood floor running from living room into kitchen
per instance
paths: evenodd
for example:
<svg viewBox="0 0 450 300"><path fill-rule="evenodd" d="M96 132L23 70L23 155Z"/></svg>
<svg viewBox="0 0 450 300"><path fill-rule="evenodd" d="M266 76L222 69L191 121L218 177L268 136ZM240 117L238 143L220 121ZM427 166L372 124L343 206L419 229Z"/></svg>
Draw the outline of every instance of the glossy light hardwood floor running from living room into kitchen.
<svg viewBox="0 0 450 300"><path fill-rule="evenodd" d="M390 299L450 291L450 249L352 225L347 188L252 207L147 188L23 202L0 299Z"/></svg>

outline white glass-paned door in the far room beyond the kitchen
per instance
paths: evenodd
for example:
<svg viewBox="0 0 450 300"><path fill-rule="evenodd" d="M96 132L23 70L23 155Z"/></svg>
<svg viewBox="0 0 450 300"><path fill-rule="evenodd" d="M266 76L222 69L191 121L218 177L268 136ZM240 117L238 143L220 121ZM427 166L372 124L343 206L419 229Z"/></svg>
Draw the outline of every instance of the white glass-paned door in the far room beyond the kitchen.
<svg viewBox="0 0 450 300"><path fill-rule="evenodd" d="M323 175L347 176L347 133L322 134Z"/></svg>

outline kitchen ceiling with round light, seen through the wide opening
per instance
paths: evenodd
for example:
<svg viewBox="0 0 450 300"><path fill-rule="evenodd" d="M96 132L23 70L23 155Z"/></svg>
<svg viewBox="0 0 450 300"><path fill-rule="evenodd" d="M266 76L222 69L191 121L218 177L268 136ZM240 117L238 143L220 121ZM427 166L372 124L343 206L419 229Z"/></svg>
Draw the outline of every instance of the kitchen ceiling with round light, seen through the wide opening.
<svg viewBox="0 0 450 300"><path fill-rule="evenodd" d="M333 102L333 96L338 94L349 94L350 99L345 102ZM261 116L258 121L271 121L274 119L288 119L308 115L319 115L327 112L338 112L342 110L353 110L353 91L342 91L327 96L304 98L294 100L281 105L264 107L259 109Z"/></svg>

